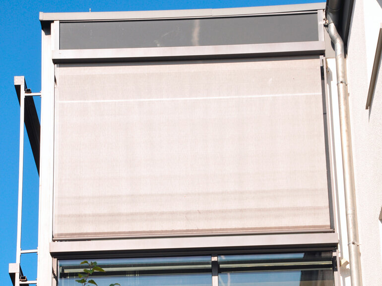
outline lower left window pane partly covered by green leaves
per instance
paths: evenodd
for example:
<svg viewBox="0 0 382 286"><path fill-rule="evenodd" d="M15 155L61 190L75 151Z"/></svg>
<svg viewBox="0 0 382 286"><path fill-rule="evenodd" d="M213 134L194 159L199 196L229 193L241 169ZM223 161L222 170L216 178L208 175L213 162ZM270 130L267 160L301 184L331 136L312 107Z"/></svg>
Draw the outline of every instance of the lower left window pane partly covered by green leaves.
<svg viewBox="0 0 382 286"><path fill-rule="evenodd" d="M82 260L59 262L59 285L79 286L78 274L85 275ZM98 286L119 283L123 286L211 286L211 258L165 257L134 259L98 259L105 272L91 276Z"/></svg>

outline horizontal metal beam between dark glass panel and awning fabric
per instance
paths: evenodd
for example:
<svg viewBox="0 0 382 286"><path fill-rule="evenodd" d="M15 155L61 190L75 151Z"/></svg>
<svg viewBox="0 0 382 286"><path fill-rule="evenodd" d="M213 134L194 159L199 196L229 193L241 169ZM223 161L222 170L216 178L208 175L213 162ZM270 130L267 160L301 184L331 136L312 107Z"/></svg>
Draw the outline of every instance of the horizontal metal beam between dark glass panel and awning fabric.
<svg viewBox="0 0 382 286"><path fill-rule="evenodd" d="M52 51L54 63L184 58L228 58L323 54L323 41L227 46L91 49Z"/></svg>

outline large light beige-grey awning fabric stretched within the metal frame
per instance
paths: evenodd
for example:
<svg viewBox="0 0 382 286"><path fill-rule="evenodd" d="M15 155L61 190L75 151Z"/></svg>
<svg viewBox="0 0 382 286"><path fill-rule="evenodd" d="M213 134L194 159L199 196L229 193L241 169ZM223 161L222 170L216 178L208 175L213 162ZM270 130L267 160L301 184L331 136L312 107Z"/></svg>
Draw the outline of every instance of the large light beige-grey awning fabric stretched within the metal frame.
<svg viewBox="0 0 382 286"><path fill-rule="evenodd" d="M318 58L56 77L54 238L330 229Z"/></svg>

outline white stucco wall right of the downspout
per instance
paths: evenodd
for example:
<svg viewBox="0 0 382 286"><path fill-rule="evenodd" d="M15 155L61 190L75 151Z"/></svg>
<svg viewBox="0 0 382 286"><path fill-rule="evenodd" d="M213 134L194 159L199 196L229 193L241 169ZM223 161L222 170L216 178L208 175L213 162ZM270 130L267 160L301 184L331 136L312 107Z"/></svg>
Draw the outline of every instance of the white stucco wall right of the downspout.
<svg viewBox="0 0 382 286"><path fill-rule="evenodd" d="M382 22L382 1L356 0L348 42L348 84L363 285L381 285L382 73L366 99ZM343 243L344 244L344 243Z"/></svg>

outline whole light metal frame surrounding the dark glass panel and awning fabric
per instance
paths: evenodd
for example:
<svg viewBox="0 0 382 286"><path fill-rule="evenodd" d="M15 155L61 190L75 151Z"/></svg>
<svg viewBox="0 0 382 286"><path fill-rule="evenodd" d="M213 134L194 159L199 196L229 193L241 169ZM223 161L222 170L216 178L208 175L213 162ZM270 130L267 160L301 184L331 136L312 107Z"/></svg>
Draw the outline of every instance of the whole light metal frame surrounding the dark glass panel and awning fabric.
<svg viewBox="0 0 382 286"><path fill-rule="evenodd" d="M99 50L59 50L60 21L71 20L118 20L118 19L158 19L158 18L190 18L216 17L255 14L281 14L318 10L319 41L301 43L275 43L256 45L204 46L204 47L173 47L173 48L140 48L140 49L99 49ZM268 6L233 9L205 10L175 10L175 11L144 11L144 12L91 12L91 13L40 13L44 23L42 31L42 99L41 114L44 121L41 124L41 173L40 177L40 213L39 213L39 268L38 279L41 285L54 286L57 281L52 276L52 269L57 266L57 259L64 256L80 255L119 255L121 253L176 253L197 251L244 251L245 249L304 249L304 248L336 248L338 234L326 233L278 233L256 235L220 235L220 236L190 236L190 237L160 237L160 238L129 238L129 239L98 239L91 241L55 241L53 242L53 172L54 172L54 94L55 94L55 64L62 62L101 62L101 61L135 61L163 59L195 59L224 57L265 57L265 56L296 56L323 55L325 51L323 39L322 10L324 3ZM49 23L50 22L50 23ZM49 25L47 25L49 23ZM324 57L321 57L324 60ZM323 63L323 66L324 63ZM325 67L324 67L325 69ZM323 80L326 85L326 78ZM323 89L326 110L329 100L326 88ZM325 119L324 119L325 120ZM330 128L330 119L326 118ZM327 130L328 142L332 142L331 133ZM326 139L325 139L326 141ZM331 150L330 172L333 170ZM333 177L331 177L331 192L334 196ZM330 210L331 218L335 218L335 210ZM335 220L336 222L336 220ZM334 222L334 229L336 225ZM332 225L332 224L331 224ZM335 285L338 285L336 280Z"/></svg>

